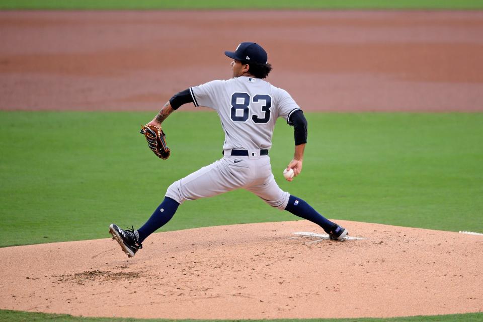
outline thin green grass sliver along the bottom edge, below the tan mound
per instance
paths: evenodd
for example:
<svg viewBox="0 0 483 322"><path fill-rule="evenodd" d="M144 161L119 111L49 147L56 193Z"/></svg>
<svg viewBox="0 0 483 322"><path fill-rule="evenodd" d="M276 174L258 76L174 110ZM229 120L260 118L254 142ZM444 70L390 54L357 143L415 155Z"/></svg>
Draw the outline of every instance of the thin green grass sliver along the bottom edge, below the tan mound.
<svg viewBox="0 0 483 322"><path fill-rule="evenodd" d="M67 314L46 314L33 312L20 312L0 310L0 320L9 322L43 322L43 321L65 321L65 322L477 322L483 321L483 313L450 314L434 316L411 316L393 318L341 318L341 319L273 319L273 320L169 320L169 319L135 319L135 318L107 318L107 317L76 317Z"/></svg>

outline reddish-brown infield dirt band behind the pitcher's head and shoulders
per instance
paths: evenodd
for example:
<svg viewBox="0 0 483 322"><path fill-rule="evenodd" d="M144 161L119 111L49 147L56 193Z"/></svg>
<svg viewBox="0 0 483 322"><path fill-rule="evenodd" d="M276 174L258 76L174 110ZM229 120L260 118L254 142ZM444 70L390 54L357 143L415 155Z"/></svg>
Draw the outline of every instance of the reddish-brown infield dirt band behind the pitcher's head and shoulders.
<svg viewBox="0 0 483 322"><path fill-rule="evenodd" d="M157 111L241 41L305 111L483 111L483 11L0 12L0 109Z"/></svg>

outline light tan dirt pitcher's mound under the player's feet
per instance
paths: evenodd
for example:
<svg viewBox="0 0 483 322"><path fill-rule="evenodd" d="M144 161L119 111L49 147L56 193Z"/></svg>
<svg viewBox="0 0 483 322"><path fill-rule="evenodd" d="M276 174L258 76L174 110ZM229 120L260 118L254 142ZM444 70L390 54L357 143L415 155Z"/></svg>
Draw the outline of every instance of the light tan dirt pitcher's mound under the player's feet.
<svg viewBox="0 0 483 322"><path fill-rule="evenodd" d="M139 318L389 317L483 310L483 236L340 221L156 233L0 249L0 308ZM107 234L106 227L106 234Z"/></svg>

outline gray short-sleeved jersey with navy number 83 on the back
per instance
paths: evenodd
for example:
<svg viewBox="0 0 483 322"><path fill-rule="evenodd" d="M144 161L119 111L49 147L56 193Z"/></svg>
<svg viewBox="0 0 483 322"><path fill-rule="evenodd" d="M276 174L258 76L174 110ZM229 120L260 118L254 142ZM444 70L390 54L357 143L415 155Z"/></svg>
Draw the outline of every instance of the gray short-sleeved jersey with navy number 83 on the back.
<svg viewBox="0 0 483 322"><path fill-rule="evenodd" d="M195 106L218 112L223 149L269 149L278 117L300 110L290 95L260 78L240 76L190 88Z"/></svg>

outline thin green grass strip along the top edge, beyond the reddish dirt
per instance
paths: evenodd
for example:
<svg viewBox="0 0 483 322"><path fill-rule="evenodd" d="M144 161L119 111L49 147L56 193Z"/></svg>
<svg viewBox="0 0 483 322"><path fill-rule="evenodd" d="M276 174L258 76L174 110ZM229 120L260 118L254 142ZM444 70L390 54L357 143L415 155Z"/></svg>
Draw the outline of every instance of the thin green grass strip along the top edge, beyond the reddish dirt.
<svg viewBox="0 0 483 322"><path fill-rule="evenodd" d="M0 9L482 9L481 0L2 0Z"/></svg>

